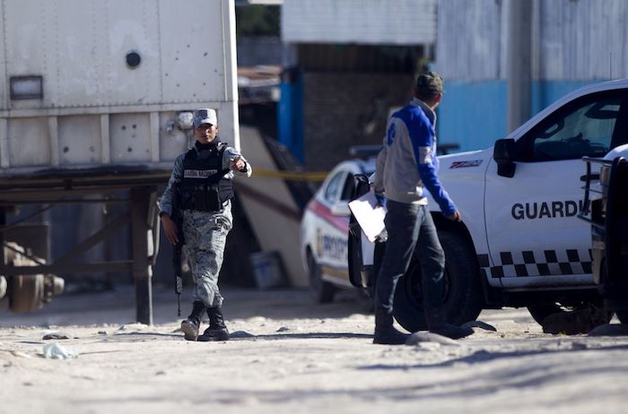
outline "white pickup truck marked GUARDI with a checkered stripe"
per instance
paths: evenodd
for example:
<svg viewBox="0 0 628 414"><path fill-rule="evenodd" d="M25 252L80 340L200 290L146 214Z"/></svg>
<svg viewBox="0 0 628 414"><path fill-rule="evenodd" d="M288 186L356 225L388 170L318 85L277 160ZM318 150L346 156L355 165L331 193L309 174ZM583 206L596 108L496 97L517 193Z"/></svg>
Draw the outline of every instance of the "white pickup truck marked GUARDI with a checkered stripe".
<svg viewBox="0 0 628 414"><path fill-rule="evenodd" d="M541 324L574 310L589 311L597 323L608 321L592 275L589 226L578 219L587 179L581 159L603 158L626 142L628 79L570 93L493 148L439 157L440 180L463 218L444 219L430 201L447 257L450 322L475 320L482 309L502 306L527 306ZM368 188L367 179L358 177L356 195ZM349 278L369 288L378 246L364 243L359 228L352 228ZM371 256L374 263L362 260ZM425 326L418 272L411 264L397 285L395 316L409 331Z"/></svg>

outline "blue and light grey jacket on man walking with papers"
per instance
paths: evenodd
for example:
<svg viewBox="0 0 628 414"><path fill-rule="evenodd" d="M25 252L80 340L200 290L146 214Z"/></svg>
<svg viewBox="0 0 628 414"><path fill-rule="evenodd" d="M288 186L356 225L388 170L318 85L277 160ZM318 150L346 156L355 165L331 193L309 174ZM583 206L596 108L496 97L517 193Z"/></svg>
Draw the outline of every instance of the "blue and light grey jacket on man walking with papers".
<svg viewBox="0 0 628 414"><path fill-rule="evenodd" d="M449 216L457 209L440 185L435 124L436 114L416 98L390 116L373 188L376 194L384 194L397 203L424 205L425 187L440 211Z"/></svg>

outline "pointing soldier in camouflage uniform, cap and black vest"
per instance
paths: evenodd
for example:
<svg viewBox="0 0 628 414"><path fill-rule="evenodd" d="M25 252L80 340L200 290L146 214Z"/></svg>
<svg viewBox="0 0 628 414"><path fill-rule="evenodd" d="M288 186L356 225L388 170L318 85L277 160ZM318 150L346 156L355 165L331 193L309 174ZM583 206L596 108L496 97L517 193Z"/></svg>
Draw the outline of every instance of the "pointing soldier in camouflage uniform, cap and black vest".
<svg viewBox="0 0 628 414"><path fill-rule="evenodd" d="M193 148L175 160L172 175L160 200L160 217L168 241L185 239L184 252L194 280L192 313L181 322L188 341L227 341L229 331L222 317L222 295L218 274L224 246L231 230L232 179L250 177L252 169L239 151L218 138L214 109L194 113ZM174 205L173 205L174 204ZM181 217L183 235L173 218ZM209 327L198 335L203 314Z"/></svg>

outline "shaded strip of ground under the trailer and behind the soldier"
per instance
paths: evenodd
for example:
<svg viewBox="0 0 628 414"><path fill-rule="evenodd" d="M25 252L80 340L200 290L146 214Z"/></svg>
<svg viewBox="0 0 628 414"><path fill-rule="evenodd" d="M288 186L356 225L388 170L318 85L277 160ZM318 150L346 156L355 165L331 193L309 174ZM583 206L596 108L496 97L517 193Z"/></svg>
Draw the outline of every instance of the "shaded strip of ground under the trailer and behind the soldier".
<svg viewBox="0 0 628 414"><path fill-rule="evenodd" d="M181 296L181 317L177 297L170 287L153 287L153 323L173 323L188 315L191 289ZM223 289L223 313L227 320L262 316L268 319L340 318L369 314L370 300L357 290L338 292L334 302L318 304L308 289ZM5 302L5 301L3 301ZM69 326L124 324L136 321L135 287L118 285L113 290L63 294L36 311L14 314L7 304L0 308L0 327Z"/></svg>

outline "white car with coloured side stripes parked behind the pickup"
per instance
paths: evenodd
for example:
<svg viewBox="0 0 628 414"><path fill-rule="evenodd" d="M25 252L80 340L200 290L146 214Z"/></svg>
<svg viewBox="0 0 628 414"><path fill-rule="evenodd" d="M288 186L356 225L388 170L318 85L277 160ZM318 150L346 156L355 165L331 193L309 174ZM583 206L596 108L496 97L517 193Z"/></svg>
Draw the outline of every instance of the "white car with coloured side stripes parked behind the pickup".
<svg viewBox="0 0 628 414"><path fill-rule="evenodd" d="M327 176L301 220L301 258L319 302L330 302L337 286L351 287L347 271L347 233L354 175L371 175L375 159L347 160Z"/></svg>

